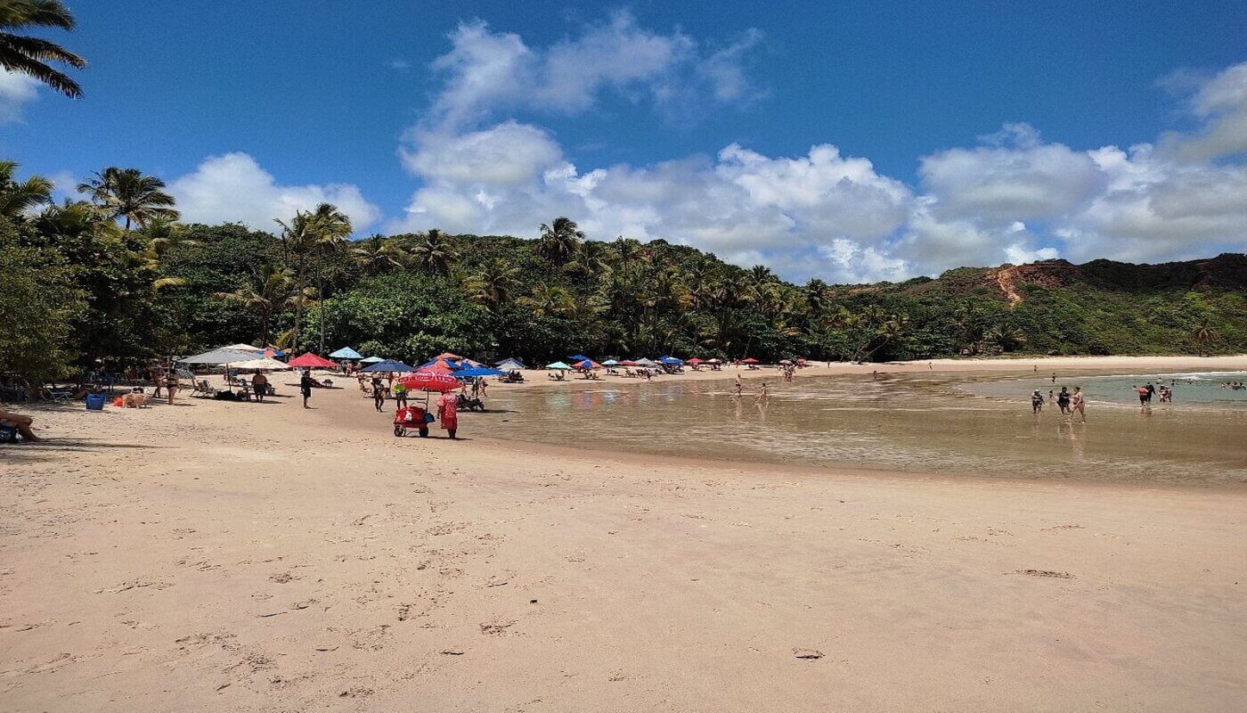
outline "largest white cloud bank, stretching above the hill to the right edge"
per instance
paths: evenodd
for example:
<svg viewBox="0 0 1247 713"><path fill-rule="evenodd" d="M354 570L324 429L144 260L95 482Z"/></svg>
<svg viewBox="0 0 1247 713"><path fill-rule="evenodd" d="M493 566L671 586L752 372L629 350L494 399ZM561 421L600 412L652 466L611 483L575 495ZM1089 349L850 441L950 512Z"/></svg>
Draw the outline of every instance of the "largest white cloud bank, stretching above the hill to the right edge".
<svg viewBox="0 0 1247 713"><path fill-rule="evenodd" d="M665 238L797 280L903 280L1055 257L1172 260L1247 248L1247 64L1190 82L1201 125L1157 145L1071 147L1025 122L919 159L918 185L832 144L769 156L742 144L648 165L580 167L515 112L571 116L604 96L670 111L756 97L761 35L710 47L617 14L550 46L460 25L444 90L399 149L420 180L392 230L534 237L557 215L597 238ZM1221 159L1213 161L1211 157Z"/></svg>

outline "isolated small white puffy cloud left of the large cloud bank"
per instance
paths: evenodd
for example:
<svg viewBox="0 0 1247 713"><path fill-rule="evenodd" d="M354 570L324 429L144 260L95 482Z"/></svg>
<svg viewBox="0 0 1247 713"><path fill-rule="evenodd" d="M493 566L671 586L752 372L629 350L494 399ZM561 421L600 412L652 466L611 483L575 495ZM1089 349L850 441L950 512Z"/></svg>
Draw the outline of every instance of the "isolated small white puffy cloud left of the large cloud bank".
<svg viewBox="0 0 1247 713"><path fill-rule="evenodd" d="M359 189L349 184L282 186L247 154L209 156L168 185L187 222L241 222L273 230L273 219L287 220L299 210L329 202L362 231L380 216Z"/></svg>

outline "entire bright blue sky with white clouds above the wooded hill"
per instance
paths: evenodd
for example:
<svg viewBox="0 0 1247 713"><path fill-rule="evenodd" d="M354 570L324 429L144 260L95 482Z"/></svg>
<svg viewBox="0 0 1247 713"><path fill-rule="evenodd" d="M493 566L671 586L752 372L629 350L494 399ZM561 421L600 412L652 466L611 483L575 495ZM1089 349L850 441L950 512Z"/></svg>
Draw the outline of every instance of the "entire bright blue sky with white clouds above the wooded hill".
<svg viewBox="0 0 1247 713"><path fill-rule="evenodd" d="M1247 246L1241 2L69 5L86 97L0 77L0 151L193 220L566 214L844 281Z"/></svg>

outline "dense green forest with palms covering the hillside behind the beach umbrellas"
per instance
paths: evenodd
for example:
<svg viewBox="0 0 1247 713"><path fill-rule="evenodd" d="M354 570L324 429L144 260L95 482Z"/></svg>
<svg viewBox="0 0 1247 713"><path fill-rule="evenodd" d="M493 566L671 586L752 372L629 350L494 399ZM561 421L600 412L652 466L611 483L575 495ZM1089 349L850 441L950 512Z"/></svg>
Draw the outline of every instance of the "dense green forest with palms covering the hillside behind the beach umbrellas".
<svg viewBox="0 0 1247 713"><path fill-rule="evenodd" d="M662 240L439 231L350 240L320 205L273 231L183 225L163 184L106 169L51 200L0 162L0 371L31 380L233 342L544 363L585 352L763 361L1247 351L1247 256L1047 261L900 283L788 283Z"/></svg>

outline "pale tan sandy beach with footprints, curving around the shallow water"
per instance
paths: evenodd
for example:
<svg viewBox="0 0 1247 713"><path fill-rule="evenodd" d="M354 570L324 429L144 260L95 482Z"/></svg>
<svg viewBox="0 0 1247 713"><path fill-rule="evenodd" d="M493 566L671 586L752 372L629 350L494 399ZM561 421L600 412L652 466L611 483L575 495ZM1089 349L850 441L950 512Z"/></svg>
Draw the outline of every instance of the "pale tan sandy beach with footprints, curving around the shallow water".
<svg viewBox="0 0 1247 713"><path fill-rule="evenodd" d="M1033 366L1247 357L807 372ZM663 460L470 415L398 440L353 383L303 410L293 381L27 410L49 442L0 451L0 711L1247 706L1242 488Z"/></svg>

